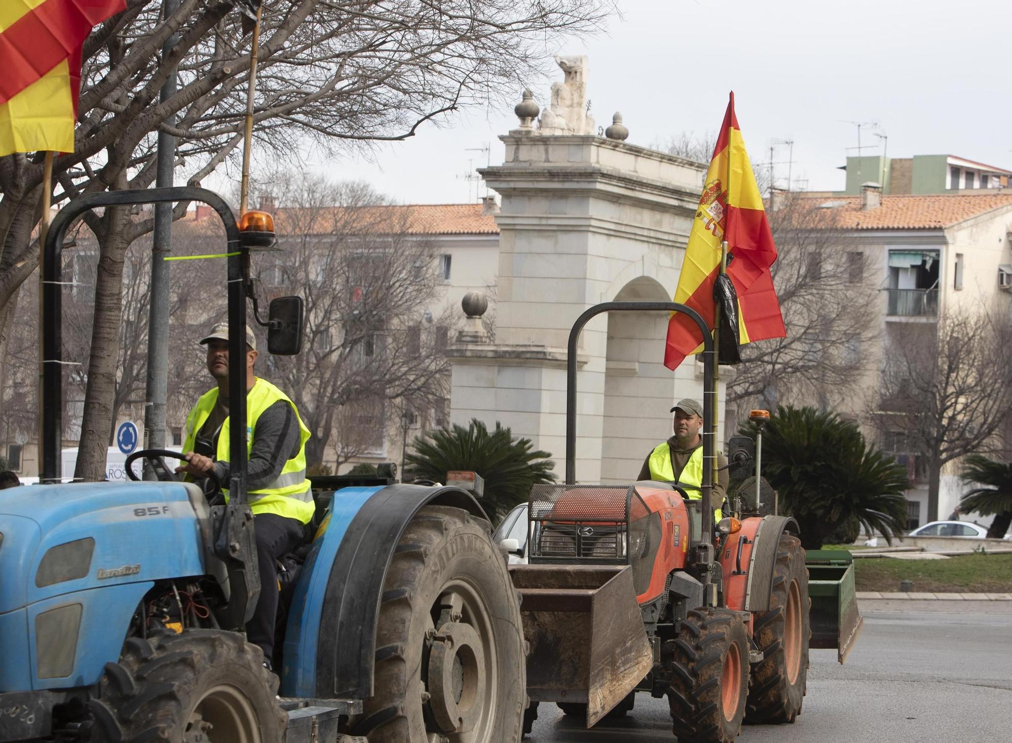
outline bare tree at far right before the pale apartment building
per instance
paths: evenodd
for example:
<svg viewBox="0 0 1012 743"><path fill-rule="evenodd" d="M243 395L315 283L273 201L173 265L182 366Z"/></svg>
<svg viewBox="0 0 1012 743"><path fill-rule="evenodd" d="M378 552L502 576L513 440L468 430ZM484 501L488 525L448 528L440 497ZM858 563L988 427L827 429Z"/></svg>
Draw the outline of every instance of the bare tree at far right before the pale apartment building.
<svg viewBox="0 0 1012 743"><path fill-rule="evenodd" d="M942 468L989 450L1012 414L1012 327L959 310L890 336L875 420L901 435L928 472L928 520L938 519Z"/></svg>

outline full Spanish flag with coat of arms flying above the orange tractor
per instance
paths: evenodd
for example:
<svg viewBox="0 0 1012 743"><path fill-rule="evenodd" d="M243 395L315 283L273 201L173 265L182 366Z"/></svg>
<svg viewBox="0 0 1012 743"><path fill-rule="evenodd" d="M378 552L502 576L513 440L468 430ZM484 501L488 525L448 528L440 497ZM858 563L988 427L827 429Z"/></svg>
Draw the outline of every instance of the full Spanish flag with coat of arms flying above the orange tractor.
<svg viewBox="0 0 1012 743"><path fill-rule="evenodd" d="M728 241L728 275L738 293L739 342L782 338L786 331L770 275L776 246L735 117L734 93L706 171L706 184L675 290L675 302L698 312L710 330L715 307L713 282L721 272L723 240ZM683 313L673 313L668 323L664 365L673 369L685 356L701 350L702 337L696 324Z"/></svg>

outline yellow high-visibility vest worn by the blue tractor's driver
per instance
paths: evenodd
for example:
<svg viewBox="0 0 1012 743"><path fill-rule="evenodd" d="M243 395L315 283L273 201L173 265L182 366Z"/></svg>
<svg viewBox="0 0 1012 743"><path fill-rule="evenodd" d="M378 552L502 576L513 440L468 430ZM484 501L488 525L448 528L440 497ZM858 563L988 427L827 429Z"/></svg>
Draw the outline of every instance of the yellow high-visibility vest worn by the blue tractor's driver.
<svg viewBox="0 0 1012 743"><path fill-rule="evenodd" d="M257 419L267 408L278 400L287 402L291 409L296 411L296 418L299 420L299 453L284 463L281 473L274 482L265 488L251 490L249 492L250 510L257 513L275 513L285 518L298 518L303 523L309 523L313 518L316 506L313 503L313 491L311 483L306 479L306 441L309 440L310 430L303 423L299 415L299 409L291 402L287 395L278 390L266 380L257 378L251 389L246 394L246 456L249 457L253 450L253 431L256 430ZM196 441L197 431L200 426L210 416L218 402L218 388L210 390L200 396L190 411L186 419L186 440L183 441L183 451L192 451ZM219 462L229 461L229 418L222 424L222 430L218 436ZM225 485L225 483L223 483ZM228 500L228 490L225 491Z"/></svg>

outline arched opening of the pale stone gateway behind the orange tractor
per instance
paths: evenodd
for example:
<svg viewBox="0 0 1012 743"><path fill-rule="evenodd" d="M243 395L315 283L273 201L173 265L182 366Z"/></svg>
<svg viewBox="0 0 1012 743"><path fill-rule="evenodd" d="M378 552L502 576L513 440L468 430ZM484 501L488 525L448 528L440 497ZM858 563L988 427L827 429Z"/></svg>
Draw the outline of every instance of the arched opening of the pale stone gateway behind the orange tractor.
<svg viewBox="0 0 1012 743"><path fill-rule="evenodd" d="M622 286L614 301L670 302L671 296L657 279L639 276ZM674 375L664 366L667 326L668 316L662 312L608 316L601 432L603 484L634 481L650 450L671 435L669 410L677 399L676 390L684 387L679 380L686 375L691 379L694 364L683 363Z"/></svg>

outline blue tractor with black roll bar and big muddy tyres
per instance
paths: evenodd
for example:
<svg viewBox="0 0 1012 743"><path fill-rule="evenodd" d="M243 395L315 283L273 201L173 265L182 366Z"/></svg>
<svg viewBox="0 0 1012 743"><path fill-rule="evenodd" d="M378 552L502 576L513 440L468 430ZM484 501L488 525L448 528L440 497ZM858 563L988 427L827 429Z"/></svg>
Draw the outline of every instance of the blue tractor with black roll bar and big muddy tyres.
<svg viewBox="0 0 1012 743"><path fill-rule="evenodd" d="M141 450L132 459L158 481L60 484L64 234L89 209L180 200L209 204L225 225L239 357L248 300L257 314L251 254L273 242L267 220L237 225L200 188L90 194L61 211L44 248L41 474L52 484L0 492L0 742L519 740L517 592L466 490L392 477L315 489L311 539L264 576L244 426L231 427L228 483L176 481L163 458L179 452ZM297 352L301 303L275 302L261 323L268 346ZM231 374L243 389L242 365ZM245 417L245 399L231 415ZM282 589L279 678L243 634L266 580Z"/></svg>

